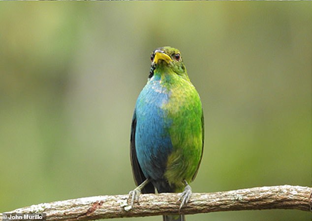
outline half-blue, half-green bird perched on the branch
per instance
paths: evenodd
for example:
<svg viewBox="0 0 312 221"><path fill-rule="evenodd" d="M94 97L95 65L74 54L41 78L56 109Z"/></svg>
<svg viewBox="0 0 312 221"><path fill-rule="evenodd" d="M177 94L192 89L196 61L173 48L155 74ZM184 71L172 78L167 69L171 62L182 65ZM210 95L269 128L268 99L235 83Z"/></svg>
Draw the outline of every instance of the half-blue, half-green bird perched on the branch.
<svg viewBox="0 0 312 221"><path fill-rule="evenodd" d="M163 221L185 221L180 210L189 201L204 147L204 115L198 92L190 82L178 49L166 46L151 54L148 81L139 94L131 123L130 161L141 193L181 193L176 215Z"/></svg>

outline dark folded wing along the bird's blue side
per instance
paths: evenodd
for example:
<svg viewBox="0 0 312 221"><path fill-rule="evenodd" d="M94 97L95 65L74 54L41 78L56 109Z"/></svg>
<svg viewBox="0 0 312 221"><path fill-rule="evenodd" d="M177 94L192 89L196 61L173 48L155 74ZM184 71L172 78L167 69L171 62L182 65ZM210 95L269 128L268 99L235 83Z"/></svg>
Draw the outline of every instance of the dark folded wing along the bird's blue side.
<svg viewBox="0 0 312 221"><path fill-rule="evenodd" d="M142 172L142 169L141 169L139 162L138 162L138 158L136 156L135 129L136 129L136 114L134 111L134 114L132 117L131 136L130 136L130 160L131 160L133 178L134 178L135 184L138 186L143 181L146 180L146 177L144 176L144 174ZM155 193L155 188L154 188L153 184L150 182L141 190L141 192L142 193Z"/></svg>

